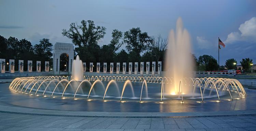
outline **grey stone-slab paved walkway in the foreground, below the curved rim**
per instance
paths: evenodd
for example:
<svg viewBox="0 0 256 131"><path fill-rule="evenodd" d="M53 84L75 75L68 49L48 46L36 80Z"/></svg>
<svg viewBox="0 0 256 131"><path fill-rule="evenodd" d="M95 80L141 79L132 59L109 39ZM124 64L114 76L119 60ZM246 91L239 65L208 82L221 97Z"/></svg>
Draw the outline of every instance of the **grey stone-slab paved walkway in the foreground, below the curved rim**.
<svg viewBox="0 0 256 131"><path fill-rule="evenodd" d="M1 131L255 131L256 116L62 117L0 113Z"/></svg>

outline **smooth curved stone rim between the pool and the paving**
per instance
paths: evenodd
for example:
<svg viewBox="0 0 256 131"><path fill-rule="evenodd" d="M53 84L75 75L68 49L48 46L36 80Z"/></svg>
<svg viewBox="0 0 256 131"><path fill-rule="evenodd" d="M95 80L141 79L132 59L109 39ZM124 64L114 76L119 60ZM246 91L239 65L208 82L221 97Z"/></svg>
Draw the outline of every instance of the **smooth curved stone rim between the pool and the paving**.
<svg viewBox="0 0 256 131"><path fill-rule="evenodd" d="M180 112L180 113L159 113L159 112L79 112L45 110L20 106L0 105L1 113L13 113L24 115L41 116L63 116L63 117L121 117L121 118L188 118L188 117L216 117L216 116L251 116L256 115L256 110L243 111L216 111L216 112Z"/></svg>

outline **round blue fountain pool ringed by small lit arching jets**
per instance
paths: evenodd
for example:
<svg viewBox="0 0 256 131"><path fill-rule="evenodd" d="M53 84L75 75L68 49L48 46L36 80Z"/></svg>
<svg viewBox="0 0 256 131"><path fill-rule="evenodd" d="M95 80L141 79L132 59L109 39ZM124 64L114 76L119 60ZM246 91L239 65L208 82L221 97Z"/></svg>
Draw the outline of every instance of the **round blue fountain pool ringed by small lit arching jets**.
<svg viewBox="0 0 256 131"><path fill-rule="evenodd" d="M8 90L1 88L1 98L18 106L94 112L233 111L255 107L252 91L237 79L184 78L182 88L187 86L193 92L170 94L166 88L172 79L84 76L79 82L68 76L20 77L6 84Z"/></svg>

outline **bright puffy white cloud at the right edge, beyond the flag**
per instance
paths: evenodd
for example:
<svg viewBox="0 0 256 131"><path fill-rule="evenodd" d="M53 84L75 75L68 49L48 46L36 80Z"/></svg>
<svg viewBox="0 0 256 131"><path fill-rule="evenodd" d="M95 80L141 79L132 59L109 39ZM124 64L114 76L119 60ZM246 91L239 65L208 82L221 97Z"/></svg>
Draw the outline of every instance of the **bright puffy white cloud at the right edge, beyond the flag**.
<svg viewBox="0 0 256 131"><path fill-rule="evenodd" d="M235 41L256 42L256 17L245 21L238 29L239 31L228 34L224 43L233 43Z"/></svg>

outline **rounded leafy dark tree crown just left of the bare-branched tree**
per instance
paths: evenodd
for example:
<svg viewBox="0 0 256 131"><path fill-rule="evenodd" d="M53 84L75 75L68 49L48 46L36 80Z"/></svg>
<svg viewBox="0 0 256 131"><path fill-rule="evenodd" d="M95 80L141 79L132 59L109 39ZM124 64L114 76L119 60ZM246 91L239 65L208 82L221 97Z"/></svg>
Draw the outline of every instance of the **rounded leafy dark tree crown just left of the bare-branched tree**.
<svg viewBox="0 0 256 131"><path fill-rule="evenodd" d="M141 32L140 28L131 28L124 33L124 43L127 44L128 52L133 52L135 56L140 56L140 53L148 49L148 43L152 41L147 32Z"/></svg>

